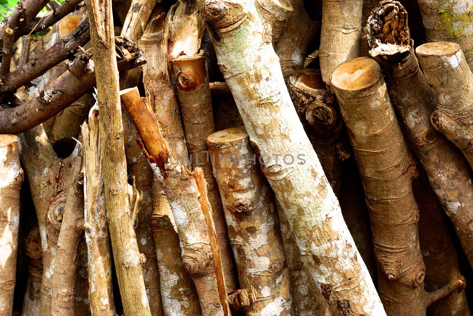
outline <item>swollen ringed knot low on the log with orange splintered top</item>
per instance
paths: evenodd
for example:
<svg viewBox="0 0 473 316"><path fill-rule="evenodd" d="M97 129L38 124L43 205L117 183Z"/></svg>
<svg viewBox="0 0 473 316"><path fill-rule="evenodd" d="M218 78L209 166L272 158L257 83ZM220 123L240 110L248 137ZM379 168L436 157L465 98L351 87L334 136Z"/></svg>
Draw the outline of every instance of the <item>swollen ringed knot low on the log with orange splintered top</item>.
<svg viewBox="0 0 473 316"><path fill-rule="evenodd" d="M182 261L185 270L193 278L208 274L209 269L213 269L210 247L204 248L201 244L184 246Z"/></svg>

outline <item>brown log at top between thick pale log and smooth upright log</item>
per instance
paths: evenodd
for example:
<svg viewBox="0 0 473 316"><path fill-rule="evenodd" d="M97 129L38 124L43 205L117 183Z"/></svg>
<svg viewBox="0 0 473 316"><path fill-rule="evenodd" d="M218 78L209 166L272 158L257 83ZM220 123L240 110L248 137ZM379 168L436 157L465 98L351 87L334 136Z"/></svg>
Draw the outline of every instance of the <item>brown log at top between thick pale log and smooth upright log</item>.
<svg viewBox="0 0 473 316"><path fill-rule="evenodd" d="M279 41L274 47L284 79L288 79L294 71L304 68L307 47L319 27L309 18L303 0L290 0L290 5L292 14L287 18Z"/></svg>

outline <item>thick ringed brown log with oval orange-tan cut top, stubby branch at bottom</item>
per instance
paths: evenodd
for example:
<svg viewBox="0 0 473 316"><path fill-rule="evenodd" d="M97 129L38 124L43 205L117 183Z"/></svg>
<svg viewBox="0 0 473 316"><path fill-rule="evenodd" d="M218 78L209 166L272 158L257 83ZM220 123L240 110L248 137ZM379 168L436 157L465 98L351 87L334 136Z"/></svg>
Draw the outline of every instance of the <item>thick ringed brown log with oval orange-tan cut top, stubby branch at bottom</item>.
<svg viewBox="0 0 473 316"><path fill-rule="evenodd" d="M425 315L432 300L440 292L448 295L452 284L439 292L424 290L419 207L412 193L415 160L404 143L381 67L360 57L338 67L331 81L365 189L386 314ZM455 284L458 288L463 281Z"/></svg>

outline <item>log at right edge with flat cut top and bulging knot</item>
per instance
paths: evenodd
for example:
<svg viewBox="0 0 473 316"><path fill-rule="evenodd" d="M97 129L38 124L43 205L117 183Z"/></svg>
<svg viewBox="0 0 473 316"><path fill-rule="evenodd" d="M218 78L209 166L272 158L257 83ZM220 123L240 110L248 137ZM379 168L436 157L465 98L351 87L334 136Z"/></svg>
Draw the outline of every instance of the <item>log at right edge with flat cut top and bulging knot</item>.
<svg viewBox="0 0 473 316"><path fill-rule="evenodd" d="M458 44L435 42L416 49L437 105L430 122L458 147L473 166L473 74Z"/></svg>

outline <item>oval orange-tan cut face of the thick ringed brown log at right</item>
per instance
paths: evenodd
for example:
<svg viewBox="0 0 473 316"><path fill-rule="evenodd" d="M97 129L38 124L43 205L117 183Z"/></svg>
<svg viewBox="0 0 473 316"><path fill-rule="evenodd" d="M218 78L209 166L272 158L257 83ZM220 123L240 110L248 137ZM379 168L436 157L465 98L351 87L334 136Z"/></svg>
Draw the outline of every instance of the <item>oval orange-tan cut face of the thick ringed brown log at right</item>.
<svg viewBox="0 0 473 316"><path fill-rule="evenodd" d="M332 85L343 91L363 91L381 79L381 67L372 58L360 57L333 71Z"/></svg>

